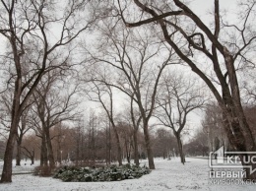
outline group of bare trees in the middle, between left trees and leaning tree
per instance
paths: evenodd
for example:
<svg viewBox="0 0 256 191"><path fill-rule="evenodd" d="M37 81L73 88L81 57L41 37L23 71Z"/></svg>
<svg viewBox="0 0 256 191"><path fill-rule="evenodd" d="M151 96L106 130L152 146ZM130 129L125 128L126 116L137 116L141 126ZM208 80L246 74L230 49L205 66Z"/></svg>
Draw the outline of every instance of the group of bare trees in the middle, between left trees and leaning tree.
<svg viewBox="0 0 256 191"><path fill-rule="evenodd" d="M86 79L82 77L82 82L87 82L84 92L91 100L100 102L113 128L116 126L113 119L114 91L127 97L135 148L136 133L141 122L150 168L155 168L149 133L149 123L153 117L157 118L159 125L172 129L181 162L184 163L181 133L188 114L201 108L208 99L204 88L193 77L184 77L179 72L179 67L175 65L181 64L180 59L151 30L125 29L120 20L113 21L112 18L99 22L96 27L99 32L95 49L84 48L88 55L86 62L90 64L86 72L88 75L90 71L91 75ZM193 87L194 84L198 86ZM105 99L108 99L108 105ZM117 133L115 138L119 145Z"/></svg>

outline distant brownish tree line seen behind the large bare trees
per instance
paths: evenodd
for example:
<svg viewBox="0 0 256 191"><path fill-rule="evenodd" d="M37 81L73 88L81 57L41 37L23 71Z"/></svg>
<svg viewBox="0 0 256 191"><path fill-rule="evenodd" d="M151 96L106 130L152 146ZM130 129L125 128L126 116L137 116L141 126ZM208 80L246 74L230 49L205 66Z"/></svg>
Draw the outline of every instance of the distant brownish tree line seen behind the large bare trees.
<svg viewBox="0 0 256 191"><path fill-rule="evenodd" d="M255 108L246 108L247 119L255 124L254 114ZM102 120L103 119L103 120ZM124 120L124 119L122 119ZM251 126L252 131L255 127ZM154 131L153 128L151 128ZM125 121L118 121L117 132L120 136L121 159L135 162L135 149L133 142L132 126ZM77 127L68 127L59 123L51 130L52 153L55 162L73 161L76 165L110 164L116 161L118 150L116 142L113 139L114 132L106 116L96 115L91 112L88 121L78 123ZM255 133L254 133L255 135ZM138 132L139 159L147 157L145 142L143 140L143 132ZM175 137L170 129L156 129L151 132L151 139L154 151L154 157L163 159L173 156L179 156L178 145ZM23 159L40 159L40 138L31 132L23 138L21 153ZM4 143L3 145L4 146ZM232 151L227 137L223 132L222 123L220 123L220 108L216 104L210 104L206 108L205 118L202 128L198 129L194 138L184 145L184 154L186 156L205 156L210 152L217 151L224 146L225 151ZM3 154L3 151L1 152ZM15 156L18 156L18 150ZM182 158L181 158L182 159ZM18 159L17 159L18 162ZM27 162L29 163L29 162ZM19 165L17 163L17 165Z"/></svg>

